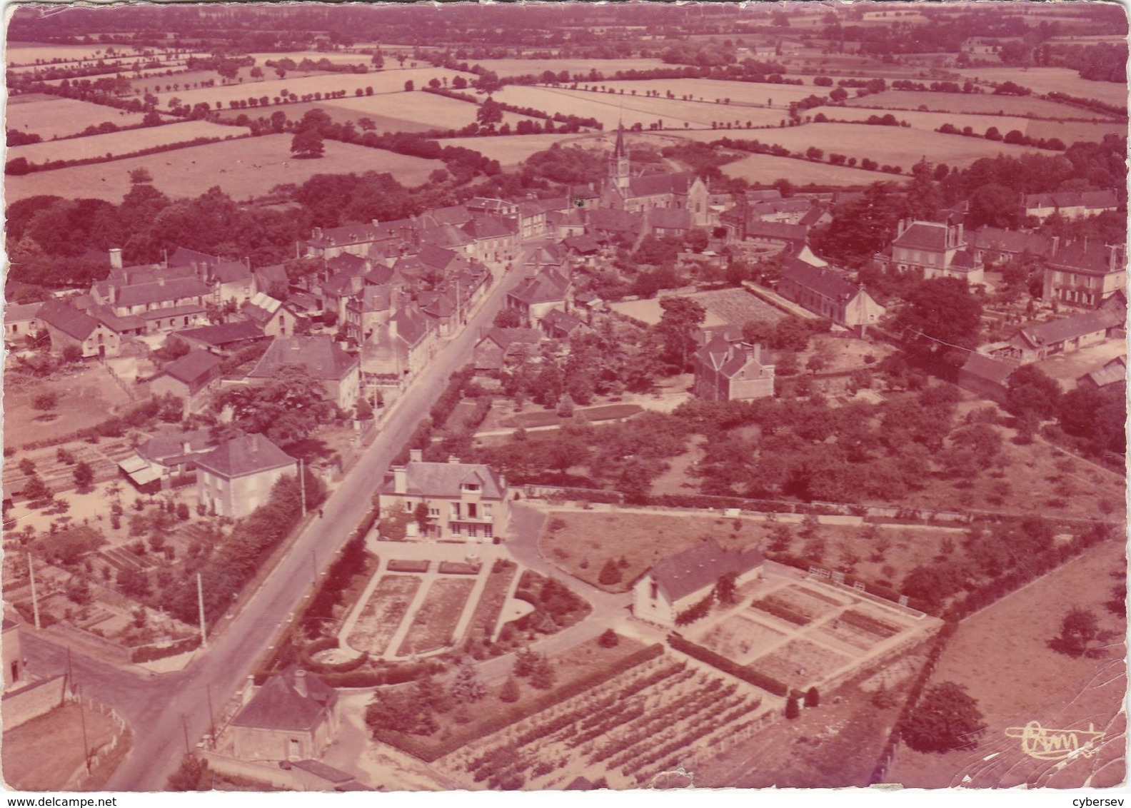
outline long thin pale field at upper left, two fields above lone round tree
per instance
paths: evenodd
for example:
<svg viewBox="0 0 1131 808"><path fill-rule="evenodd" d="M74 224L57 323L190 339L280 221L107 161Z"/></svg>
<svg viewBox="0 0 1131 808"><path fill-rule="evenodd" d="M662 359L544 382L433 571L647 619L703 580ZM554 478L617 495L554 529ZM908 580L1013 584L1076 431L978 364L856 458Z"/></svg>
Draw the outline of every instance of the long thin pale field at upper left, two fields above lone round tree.
<svg viewBox="0 0 1131 808"><path fill-rule="evenodd" d="M268 72L267 75L270 77L274 76L274 72ZM318 73L297 78L288 73L282 79L268 78L264 81L253 81L250 84L244 81L243 84L204 87L188 92L183 89L180 92L166 90L158 97L161 98L162 106L167 105L169 98L176 96L182 103L189 106L206 101L214 108L217 102L223 103L226 108L231 101L242 101L252 96L258 98L265 95L268 98L274 98L284 89L300 98L303 95L313 93L326 94L343 89L347 96L354 97L354 90L364 90L366 87L372 87L374 93L403 93L405 90L405 81L412 81L420 88L426 87L430 79L447 78L450 84L452 78L460 75L463 73L458 73L455 70L433 67L417 68L416 70L379 70L369 73Z"/></svg>

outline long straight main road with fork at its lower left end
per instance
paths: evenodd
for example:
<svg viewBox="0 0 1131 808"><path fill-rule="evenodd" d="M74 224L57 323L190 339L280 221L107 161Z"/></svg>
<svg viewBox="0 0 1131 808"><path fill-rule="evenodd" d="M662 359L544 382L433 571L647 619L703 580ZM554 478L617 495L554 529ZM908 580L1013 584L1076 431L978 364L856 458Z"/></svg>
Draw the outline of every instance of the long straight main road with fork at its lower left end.
<svg viewBox="0 0 1131 808"><path fill-rule="evenodd" d="M279 562L240 615L230 622L207 653L198 654L175 674L137 676L72 654L75 681L84 693L114 707L133 728L130 754L111 777L110 791L154 791L180 764L185 736L195 744L209 729L208 700L219 707L245 680L313 579L311 553L321 567L346 541L370 507L370 496L392 457L417 420L439 397L448 376L470 357L480 328L490 325L506 292L521 279L518 270L504 276L460 336L446 345L394 405L395 410L373 444L342 480L323 506L325 519L311 522L293 549ZM66 651L28 632L24 641L33 670L61 671Z"/></svg>

